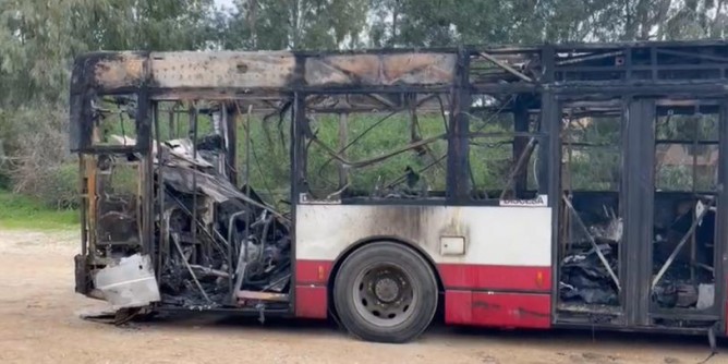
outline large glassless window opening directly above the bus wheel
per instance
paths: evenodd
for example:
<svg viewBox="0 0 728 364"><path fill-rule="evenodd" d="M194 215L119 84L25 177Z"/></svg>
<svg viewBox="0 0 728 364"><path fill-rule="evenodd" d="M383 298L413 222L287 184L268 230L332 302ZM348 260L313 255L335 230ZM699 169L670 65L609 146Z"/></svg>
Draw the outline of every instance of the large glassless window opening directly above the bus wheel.
<svg viewBox="0 0 728 364"><path fill-rule="evenodd" d="M445 199L448 106L409 96L392 111L307 113L306 187L313 199Z"/></svg>

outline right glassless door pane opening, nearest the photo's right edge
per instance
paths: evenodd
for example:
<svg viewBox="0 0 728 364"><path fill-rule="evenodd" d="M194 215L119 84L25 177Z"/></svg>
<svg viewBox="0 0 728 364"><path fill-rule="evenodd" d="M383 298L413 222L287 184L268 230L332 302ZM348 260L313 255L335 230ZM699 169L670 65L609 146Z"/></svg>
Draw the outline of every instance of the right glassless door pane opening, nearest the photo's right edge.
<svg viewBox="0 0 728 364"><path fill-rule="evenodd" d="M653 305L715 307L717 111L658 107L655 120Z"/></svg>

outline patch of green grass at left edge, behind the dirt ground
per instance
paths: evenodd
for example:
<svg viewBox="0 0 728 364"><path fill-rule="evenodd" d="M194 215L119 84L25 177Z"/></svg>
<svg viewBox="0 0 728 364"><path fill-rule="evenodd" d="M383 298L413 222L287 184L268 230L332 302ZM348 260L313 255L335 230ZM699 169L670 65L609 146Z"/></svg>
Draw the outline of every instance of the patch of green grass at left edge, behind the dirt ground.
<svg viewBox="0 0 728 364"><path fill-rule="evenodd" d="M0 191L0 229L70 230L78 226L77 210L54 210L34 197Z"/></svg>

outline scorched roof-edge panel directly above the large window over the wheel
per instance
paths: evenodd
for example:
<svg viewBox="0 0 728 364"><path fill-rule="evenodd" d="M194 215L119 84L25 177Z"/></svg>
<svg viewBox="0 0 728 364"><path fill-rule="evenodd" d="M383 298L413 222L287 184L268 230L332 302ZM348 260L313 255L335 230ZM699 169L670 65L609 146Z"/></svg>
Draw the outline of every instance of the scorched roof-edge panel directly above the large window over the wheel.
<svg viewBox="0 0 728 364"><path fill-rule="evenodd" d="M456 54L342 54L306 59L305 81L325 85L437 85L452 83Z"/></svg>

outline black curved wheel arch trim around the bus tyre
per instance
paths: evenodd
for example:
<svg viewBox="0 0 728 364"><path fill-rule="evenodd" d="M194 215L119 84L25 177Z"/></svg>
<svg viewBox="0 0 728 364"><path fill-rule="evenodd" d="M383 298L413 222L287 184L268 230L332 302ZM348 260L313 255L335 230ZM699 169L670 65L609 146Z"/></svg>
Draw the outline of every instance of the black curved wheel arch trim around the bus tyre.
<svg viewBox="0 0 728 364"><path fill-rule="evenodd" d="M432 256L427 254L425 250L423 250L420 245L416 243L409 241L407 239L401 239L398 236L390 236L390 235L374 235L374 236L368 236L365 239L361 239L353 244L349 245L339 256L333 260L333 266L331 266L331 271L329 271L328 280L326 282L326 298L327 298L327 305L328 305L328 312L336 316L336 307L333 305L333 282L336 281L337 275L339 274L339 269L341 268L341 265L343 262L354 252L371 245L373 243L380 243L380 242L389 242L389 243L395 243L401 246L404 246L415 254L420 255L429 266L429 269L433 270L435 274L435 280L437 281L437 293L442 294L445 292L445 284L442 284L442 278L440 277L440 271L437 268L437 265L435 264L435 260L433 260ZM439 301L439 300L438 300Z"/></svg>

